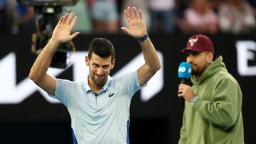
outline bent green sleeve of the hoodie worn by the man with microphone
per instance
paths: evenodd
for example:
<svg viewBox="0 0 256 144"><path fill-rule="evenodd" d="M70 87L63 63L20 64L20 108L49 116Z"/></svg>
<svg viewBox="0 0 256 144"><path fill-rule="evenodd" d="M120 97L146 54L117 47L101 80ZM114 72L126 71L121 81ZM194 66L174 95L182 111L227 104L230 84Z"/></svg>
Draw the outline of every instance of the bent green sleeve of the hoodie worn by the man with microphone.
<svg viewBox="0 0 256 144"><path fill-rule="evenodd" d="M242 93L231 79L218 82L213 92L213 101L198 99L193 104L203 118L214 126L228 129L237 120L242 107Z"/></svg>

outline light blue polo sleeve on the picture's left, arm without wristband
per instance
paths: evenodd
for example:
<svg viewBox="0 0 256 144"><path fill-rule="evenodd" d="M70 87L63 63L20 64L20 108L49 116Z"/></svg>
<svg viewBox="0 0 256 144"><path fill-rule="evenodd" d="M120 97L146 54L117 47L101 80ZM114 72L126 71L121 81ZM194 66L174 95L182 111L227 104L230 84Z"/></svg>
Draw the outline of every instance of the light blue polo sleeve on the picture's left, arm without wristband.
<svg viewBox="0 0 256 144"><path fill-rule="evenodd" d="M54 99L58 99L66 107L71 104L72 93L75 92L75 82L66 79L56 79L55 95L50 95Z"/></svg>

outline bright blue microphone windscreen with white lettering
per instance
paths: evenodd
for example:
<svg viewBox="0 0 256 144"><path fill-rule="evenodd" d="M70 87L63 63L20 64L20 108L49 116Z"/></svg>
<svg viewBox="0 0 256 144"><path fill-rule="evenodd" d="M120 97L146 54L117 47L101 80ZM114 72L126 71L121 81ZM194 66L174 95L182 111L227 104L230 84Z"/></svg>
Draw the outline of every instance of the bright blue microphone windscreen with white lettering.
<svg viewBox="0 0 256 144"><path fill-rule="evenodd" d="M191 75L191 64L188 62L181 62L178 67L178 78L189 79Z"/></svg>

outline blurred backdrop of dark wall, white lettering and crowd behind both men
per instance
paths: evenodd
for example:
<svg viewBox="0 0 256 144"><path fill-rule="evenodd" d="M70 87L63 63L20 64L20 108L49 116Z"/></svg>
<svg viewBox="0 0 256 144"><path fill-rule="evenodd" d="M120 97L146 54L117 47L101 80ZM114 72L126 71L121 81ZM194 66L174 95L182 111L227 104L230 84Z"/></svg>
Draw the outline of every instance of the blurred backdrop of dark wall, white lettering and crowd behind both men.
<svg viewBox="0 0 256 144"><path fill-rule="evenodd" d="M114 44L117 64L111 75L135 70L143 62L139 43L120 31L127 26L127 6L142 10L163 65L148 88L132 99L130 143L178 143L183 113L177 96L178 65L186 60L178 50L198 33L213 40L215 57L223 55L228 71L240 83L245 143L254 141L255 0L79 0L58 6L30 2L0 0L0 143L72 143L67 109L28 79L29 70L58 18L70 11L78 16L74 31L80 35L60 46L50 74L84 79L87 47L97 37Z"/></svg>

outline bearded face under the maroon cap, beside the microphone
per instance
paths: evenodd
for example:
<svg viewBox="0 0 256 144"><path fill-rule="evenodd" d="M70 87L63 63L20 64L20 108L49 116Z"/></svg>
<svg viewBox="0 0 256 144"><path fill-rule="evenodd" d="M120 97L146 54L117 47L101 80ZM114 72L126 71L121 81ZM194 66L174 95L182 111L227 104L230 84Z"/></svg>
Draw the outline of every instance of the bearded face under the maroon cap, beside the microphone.
<svg viewBox="0 0 256 144"><path fill-rule="evenodd" d="M196 76L201 76L213 60L211 52L186 51L186 56L186 61L191 64L192 74Z"/></svg>

